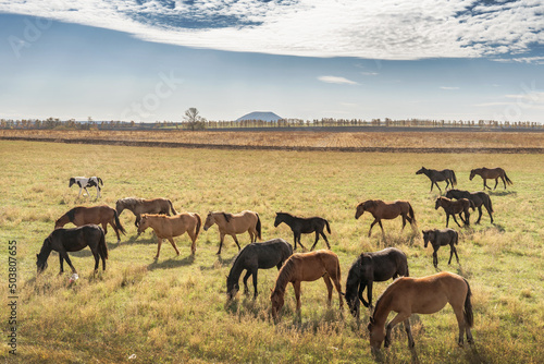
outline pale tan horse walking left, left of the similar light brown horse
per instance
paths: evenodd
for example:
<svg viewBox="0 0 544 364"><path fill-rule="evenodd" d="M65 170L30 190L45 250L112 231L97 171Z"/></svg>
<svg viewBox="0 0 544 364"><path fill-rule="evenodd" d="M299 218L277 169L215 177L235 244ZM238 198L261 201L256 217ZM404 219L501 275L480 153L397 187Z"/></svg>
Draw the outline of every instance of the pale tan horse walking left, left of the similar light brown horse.
<svg viewBox="0 0 544 364"><path fill-rule="evenodd" d="M200 215L194 213L182 213L176 216L144 214L141 215L141 219L139 221L138 234L146 231L147 228L153 229L154 234L159 239L157 256L154 259L159 258L162 241L164 239L168 239L174 247L176 255L180 255L180 251L177 250L177 245L175 244L173 238L180 236L184 233L189 235L191 241L190 254L195 255L197 250L195 242L198 238L198 233L200 232L201 225L202 220L200 219Z"/></svg>

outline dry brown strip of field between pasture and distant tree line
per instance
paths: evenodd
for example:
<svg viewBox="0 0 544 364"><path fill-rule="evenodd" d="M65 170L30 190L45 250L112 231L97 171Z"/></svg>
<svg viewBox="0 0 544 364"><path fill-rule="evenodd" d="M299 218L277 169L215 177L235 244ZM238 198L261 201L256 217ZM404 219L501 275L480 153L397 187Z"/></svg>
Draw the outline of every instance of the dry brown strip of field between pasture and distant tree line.
<svg viewBox="0 0 544 364"><path fill-rule="evenodd" d="M0 139L222 149L397 153L544 153L535 132L38 131L2 130Z"/></svg>

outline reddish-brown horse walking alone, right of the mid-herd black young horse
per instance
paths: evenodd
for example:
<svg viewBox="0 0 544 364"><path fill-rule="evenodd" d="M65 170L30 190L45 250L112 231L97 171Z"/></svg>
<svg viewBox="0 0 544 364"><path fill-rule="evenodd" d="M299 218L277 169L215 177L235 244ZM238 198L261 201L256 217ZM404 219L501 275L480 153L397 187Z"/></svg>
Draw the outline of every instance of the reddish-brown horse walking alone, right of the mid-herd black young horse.
<svg viewBox="0 0 544 364"><path fill-rule="evenodd" d="M369 211L374 217L374 221L370 225L369 238L372 233L372 228L376 222L382 228L382 235L385 239L385 232L383 231L382 219L394 219L397 216L403 217L403 229L406 226L406 220L410 222L412 228L416 227L416 216L413 215L413 209L407 201L395 201L393 203L384 203L381 199L367 199L357 206L357 213L355 218L358 219L364 211Z"/></svg>

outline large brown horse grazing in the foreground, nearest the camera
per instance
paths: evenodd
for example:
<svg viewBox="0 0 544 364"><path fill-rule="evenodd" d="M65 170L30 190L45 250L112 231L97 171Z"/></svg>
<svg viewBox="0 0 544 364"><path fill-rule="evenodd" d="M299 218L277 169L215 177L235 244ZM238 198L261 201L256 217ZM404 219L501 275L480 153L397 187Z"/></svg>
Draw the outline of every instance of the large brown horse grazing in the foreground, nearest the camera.
<svg viewBox="0 0 544 364"><path fill-rule="evenodd" d="M408 347L413 348L411 335L411 314L434 314L449 303L454 308L457 324L459 326L458 344L463 344L463 333L467 333L469 343L473 343L470 328L474 323L472 304L470 302L469 282L455 274L442 271L436 275L409 278L400 277L391 283L378 299L375 310L370 317L368 330L370 331L370 347L375 352L385 339L385 348L391 344L391 330L400 321L405 323L408 336ZM385 321L391 312L397 315L385 327Z"/></svg>

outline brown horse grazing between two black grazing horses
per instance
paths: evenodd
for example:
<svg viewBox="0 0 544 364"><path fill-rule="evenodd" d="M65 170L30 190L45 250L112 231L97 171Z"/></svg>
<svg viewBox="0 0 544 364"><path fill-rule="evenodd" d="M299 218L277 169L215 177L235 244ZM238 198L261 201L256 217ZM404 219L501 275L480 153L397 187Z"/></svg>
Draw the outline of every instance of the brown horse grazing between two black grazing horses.
<svg viewBox="0 0 544 364"><path fill-rule="evenodd" d="M311 253L293 254L284 263L277 274L275 288L272 291L270 300L272 301L272 317L277 317L277 312L283 307L284 295L287 283L292 283L297 299L297 312L300 312L300 282L314 281L323 278L329 291L327 304L331 305L333 298L333 284L338 292L339 307L342 310L344 301L342 300L341 266L338 256L331 251L316 251Z"/></svg>

